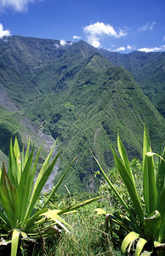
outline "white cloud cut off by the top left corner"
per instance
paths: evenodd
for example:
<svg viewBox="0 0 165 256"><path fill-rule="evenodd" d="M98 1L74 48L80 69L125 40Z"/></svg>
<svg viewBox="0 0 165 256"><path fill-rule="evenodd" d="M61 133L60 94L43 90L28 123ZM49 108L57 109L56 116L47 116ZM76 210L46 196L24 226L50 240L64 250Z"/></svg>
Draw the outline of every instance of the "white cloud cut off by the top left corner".
<svg viewBox="0 0 165 256"><path fill-rule="evenodd" d="M0 0L0 8L12 8L15 11L26 11L28 3L34 3L42 0Z"/></svg>

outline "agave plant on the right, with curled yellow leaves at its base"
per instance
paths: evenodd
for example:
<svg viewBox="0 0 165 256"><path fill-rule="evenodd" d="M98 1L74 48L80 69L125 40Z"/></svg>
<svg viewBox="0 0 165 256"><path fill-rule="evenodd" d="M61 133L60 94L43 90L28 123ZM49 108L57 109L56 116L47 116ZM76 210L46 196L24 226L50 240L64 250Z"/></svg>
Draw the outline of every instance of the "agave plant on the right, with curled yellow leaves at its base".
<svg viewBox="0 0 165 256"><path fill-rule="evenodd" d="M106 176L99 161L95 157L94 159L100 166L100 171L105 177L106 182L117 195L125 211L124 214L117 213L111 215L111 222L119 224L122 230L126 230L127 232L127 236L125 236L122 241L121 251L129 255L129 253L133 253L134 250L135 256L139 256L140 253L144 251L144 255L151 255L151 253L154 253L154 255L165 255L165 149L162 153L162 157L152 153L148 131L146 131L146 129L144 130L144 201L140 201L135 186L134 175L129 165L128 155L119 135L117 136L117 147L121 159L111 147L115 165L128 191L128 195L134 206L134 211L123 201L122 195L118 193L115 186ZM154 155L159 159L157 171L153 160Z"/></svg>

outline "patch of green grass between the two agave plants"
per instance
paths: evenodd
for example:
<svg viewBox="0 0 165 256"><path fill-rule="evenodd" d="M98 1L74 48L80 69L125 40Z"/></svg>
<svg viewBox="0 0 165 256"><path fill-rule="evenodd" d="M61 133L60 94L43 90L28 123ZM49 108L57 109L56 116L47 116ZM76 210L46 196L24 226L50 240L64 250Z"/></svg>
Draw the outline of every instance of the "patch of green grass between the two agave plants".
<svg viewBox="0 0 165 256"><path fill-rule="evenodd" d="M71 199L74 201L74 199ZM65 204L63 201L62 204ZM105 217L97 215L94 209L107 201L93 202L88 206L82 207L77 213L65 216L65 221L71 225L72 232L76 241L68 236L63 230L61 236L49 236L44 240L44 252L48 256L120 256L119 250L114 250L111 241L105 236ZM108 207L108 205L107 205ZM43 241L42 241L43 244ZM40 247L40 249L38 249ZM24 246L24 255L29 255ZM30 254L31 255L31 254ZM43 255L41 241L33 248L33 256Z"/></svg>

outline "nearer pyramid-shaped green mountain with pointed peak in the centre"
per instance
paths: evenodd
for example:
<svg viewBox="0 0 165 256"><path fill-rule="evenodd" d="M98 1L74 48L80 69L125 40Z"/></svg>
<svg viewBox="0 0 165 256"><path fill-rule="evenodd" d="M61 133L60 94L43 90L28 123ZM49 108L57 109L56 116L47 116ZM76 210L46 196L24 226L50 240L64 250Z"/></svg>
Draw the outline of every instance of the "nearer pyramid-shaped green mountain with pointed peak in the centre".
<svg viewBox="0 0 165 256"><path fill-rule="evenodd" d="M117 141L117 130L130 158L140 158L144 125L150 127L155 146L160 141L164 120L124 68L95 54L71 80L64 80L64 88L38 96L26 115L42 124L44 132L59 137L59 147L65 148L57 178L78 154L67 180L71 191L94 189L97 166L88 148L105 168L113 164L110 142Z"/></svg>

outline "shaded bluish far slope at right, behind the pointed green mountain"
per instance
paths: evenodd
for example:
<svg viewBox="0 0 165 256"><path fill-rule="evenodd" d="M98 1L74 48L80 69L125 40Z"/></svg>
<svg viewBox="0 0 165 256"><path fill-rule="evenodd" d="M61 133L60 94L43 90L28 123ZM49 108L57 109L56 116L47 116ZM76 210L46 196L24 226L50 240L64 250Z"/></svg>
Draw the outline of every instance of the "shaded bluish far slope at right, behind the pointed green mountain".
<svg viewBox="0 0 165 256"><path fill-rule="evenodd" d="M133 74L155 107L165 116L165 52L134 51L128 55L100 50L108 60Z"/></svg>

